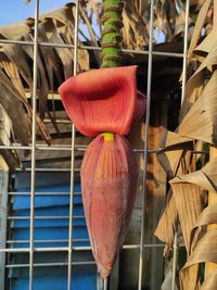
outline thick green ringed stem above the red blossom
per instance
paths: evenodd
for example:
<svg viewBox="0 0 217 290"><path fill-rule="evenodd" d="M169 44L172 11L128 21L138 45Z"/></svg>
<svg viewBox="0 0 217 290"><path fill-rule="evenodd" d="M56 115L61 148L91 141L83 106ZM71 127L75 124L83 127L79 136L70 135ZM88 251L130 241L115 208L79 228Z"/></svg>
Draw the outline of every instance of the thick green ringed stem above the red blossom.
<svg viewBox="0 0 217 290"><path fill-rule="evenodd" d="M123 27L123 1L103 0L102 65L114 67L120 65L120 42Z"/></svg>

